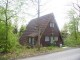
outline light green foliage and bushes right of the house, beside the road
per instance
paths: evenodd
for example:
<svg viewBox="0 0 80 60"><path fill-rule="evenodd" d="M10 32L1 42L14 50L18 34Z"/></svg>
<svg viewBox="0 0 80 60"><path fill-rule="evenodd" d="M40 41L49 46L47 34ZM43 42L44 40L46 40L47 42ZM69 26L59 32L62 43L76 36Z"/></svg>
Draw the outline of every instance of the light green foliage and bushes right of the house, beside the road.
<svg viewBox="0 0 80 60"><path fill-rule="evenodd" d="M79 46L80 45L80 32L79 32L79 22L80 17L77 16L74 10L69 11L69 23L68 23L68 36L64 40L64 44L67 46Z"/></svg>

